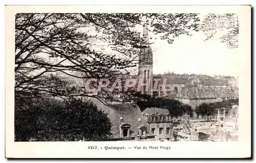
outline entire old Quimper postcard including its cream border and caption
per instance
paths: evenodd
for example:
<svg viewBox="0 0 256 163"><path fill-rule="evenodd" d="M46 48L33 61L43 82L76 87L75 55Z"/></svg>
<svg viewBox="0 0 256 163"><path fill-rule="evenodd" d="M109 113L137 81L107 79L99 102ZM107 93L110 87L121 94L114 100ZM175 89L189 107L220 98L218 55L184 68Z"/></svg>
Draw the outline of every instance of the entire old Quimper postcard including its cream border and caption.
<svg viewBox="0 0 256 163"><path fill-rule="evenodd" d="M250 31L251 6L6 6L6 157L251 157Z"/></svg>

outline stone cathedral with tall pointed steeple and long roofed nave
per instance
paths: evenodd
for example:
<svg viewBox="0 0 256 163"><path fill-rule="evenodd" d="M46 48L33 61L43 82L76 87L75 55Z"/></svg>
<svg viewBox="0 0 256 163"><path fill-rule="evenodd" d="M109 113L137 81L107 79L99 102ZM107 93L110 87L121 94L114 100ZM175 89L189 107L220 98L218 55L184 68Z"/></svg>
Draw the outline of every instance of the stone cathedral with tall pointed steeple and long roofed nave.
<svg viewBox="0 0 256 163"><path fill-rule="evenodd" d="M153 84L153 53L148 39L147 25L143 27L143 39L143 48L139 55L138 78L143 79L144 82L150 82L149 91L142 90L143 94L176 99L190 105L192 109L203 102L220 102L238 98L238 79L236 78L165 76L157 84L158 92L153 92L153 86L155 86ZM167 91L162 91L162 87Z"/></svg>

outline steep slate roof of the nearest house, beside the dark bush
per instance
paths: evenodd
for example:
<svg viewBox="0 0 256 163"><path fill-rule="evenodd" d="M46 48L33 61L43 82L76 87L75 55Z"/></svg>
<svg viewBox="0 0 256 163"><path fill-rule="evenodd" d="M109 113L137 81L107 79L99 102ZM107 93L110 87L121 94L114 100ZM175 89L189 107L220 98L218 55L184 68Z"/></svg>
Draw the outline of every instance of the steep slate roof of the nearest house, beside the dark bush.
<svg viewBox="0 0 256 163"><path fill-rule="evenodd" d="M138 134L138 127L140 125L143 125L147 128L147 136L153 135L149 130L149 126L146 123L139 107L133 106L132 103L108 103L110 106L107 106L96 99L92 99L91 101L97 105L99 110L102 109L105 113L108 113L108 117L112 124L111 133L113 134L113 138L120 137L119 126L122 123L131 125L130 137L134 137ZM122 117L123 120L120 120L120 117Z"/></svg>

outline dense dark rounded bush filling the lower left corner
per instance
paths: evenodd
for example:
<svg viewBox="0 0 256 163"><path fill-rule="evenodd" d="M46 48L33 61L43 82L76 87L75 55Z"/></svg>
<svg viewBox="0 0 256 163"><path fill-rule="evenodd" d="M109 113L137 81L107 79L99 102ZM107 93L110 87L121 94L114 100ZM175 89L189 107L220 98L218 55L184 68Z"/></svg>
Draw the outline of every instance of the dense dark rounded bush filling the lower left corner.
<svg viewBox="0 0 256 163"><path fill-rule="evenodd" d="M92 102L74 98L21 102L14 124L15 141L104 141L111 129L106 113Z"/></svg>

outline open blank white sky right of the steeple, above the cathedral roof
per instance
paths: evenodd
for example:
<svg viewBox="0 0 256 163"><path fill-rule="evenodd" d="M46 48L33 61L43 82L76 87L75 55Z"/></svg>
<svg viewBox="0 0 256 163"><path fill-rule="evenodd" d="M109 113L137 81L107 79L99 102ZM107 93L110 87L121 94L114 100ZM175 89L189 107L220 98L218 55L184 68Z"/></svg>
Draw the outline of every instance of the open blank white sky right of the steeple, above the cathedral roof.
<svg viewBox="0 0 256 163"><path fill-rule="evenodd" d="M175 38L172 44L166 40L154 40L154 74L170 71L178 74L238 76L238 49L227 49L218 35L204 41L205 38L202 32L197 32L193 36Z"/></svg>

